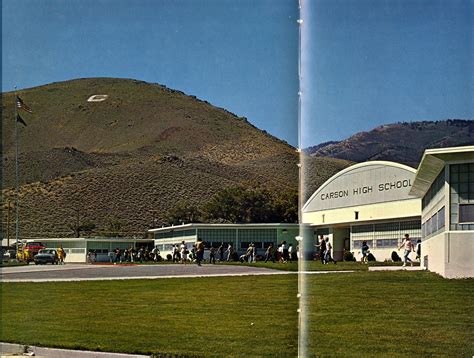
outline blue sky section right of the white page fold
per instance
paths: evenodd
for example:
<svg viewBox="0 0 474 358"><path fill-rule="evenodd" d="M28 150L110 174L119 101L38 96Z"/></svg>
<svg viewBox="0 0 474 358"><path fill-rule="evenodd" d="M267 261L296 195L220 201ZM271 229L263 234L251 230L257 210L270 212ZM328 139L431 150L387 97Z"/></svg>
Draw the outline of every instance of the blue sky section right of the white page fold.
<svg viewBox="0 0 474 358"><path fill-rule="evenodd" d="M303 1L303 144L474 118L473 10L471 0Z"/></svg>

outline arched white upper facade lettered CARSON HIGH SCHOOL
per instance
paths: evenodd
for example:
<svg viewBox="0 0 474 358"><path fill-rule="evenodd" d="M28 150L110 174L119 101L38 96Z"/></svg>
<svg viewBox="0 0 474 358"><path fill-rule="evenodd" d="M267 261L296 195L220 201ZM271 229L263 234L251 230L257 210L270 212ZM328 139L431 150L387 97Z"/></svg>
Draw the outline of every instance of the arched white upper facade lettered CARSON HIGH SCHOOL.
<svg viewBox="0 0 474 358"><path fill-rule="evenodd" d="M349 167L324 183L304 212L414 199L409 195L415 169L392 162L366 162Z"/></svg>

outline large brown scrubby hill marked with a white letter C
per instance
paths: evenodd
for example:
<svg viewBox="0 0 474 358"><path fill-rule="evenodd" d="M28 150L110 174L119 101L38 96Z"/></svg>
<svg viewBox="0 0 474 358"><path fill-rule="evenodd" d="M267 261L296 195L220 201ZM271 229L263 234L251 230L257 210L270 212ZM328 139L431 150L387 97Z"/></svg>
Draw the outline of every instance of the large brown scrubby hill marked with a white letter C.
<svg viewBox="0 0 474 358"><path fill-rule="evenodd" d="M298 185L295 148L246 118L159 84L87 78L18 92L20 236L68 237L74 225L143 235L181 201L256 183ZM106 95L89 102L93 95ZM14 236L14 94L2 94L3 233ZM310 162L314 162L311 158ZM349 165L327 159L321 175ZM10 210L8 209L10 207ZM6 225L9 222L9 225Z"/></svg>

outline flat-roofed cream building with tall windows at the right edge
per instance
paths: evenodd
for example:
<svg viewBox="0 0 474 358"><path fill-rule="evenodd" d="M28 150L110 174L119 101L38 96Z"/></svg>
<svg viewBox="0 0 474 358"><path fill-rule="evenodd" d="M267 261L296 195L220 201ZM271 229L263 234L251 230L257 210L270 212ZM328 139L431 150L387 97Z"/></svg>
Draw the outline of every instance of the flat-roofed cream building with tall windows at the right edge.
<svg viewBox="0 0 474 358"><path fill-rule="evenodd" d="M474 277L474 146L426 150L410 194L422 198L422 266Z"/></svg>

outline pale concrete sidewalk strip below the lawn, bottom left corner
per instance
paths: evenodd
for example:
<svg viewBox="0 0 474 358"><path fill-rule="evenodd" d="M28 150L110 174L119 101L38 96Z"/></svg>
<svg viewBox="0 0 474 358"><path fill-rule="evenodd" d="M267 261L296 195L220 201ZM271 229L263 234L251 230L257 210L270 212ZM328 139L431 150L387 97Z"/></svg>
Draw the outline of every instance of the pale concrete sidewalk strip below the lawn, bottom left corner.
<svg viewBox="0 0 474 358"><path fill-rule="evenodd" d="M20 344L0 343L0 357L50 357L50 358L149 358L138 354L75 351L70 349L56 349Z"/></svg>

